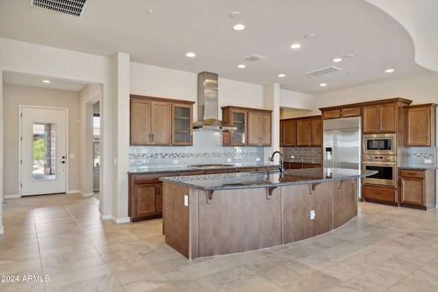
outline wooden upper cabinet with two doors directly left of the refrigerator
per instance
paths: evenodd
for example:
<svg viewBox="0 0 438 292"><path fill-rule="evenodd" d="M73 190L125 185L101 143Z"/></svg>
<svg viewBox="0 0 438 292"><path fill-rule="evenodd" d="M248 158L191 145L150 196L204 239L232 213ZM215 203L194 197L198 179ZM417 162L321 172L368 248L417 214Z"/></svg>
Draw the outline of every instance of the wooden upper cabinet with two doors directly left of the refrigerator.
<svg viewBox="0 0 438 292"><path fill-rule="evenodd" d="M296 146L317 147L322 145L321 116L296 119Z"/></svg>

